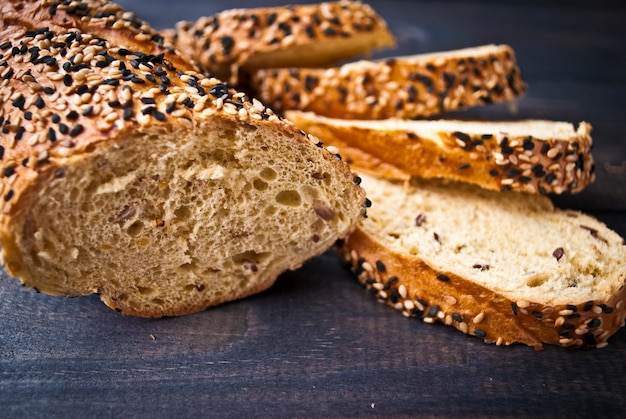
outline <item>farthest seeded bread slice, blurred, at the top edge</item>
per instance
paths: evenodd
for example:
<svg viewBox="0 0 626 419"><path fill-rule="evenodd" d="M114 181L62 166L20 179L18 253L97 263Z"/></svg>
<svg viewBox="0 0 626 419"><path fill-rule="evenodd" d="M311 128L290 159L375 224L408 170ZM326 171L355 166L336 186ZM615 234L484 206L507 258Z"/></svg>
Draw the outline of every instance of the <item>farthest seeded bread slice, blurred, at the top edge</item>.
<svg viewBox="0 0 626 419"><path fill-rule="evenodd" d="M233 83L239 69L326 66L395 46L370 6L346 0L230 9L164 33L210 73Z"/></svg>

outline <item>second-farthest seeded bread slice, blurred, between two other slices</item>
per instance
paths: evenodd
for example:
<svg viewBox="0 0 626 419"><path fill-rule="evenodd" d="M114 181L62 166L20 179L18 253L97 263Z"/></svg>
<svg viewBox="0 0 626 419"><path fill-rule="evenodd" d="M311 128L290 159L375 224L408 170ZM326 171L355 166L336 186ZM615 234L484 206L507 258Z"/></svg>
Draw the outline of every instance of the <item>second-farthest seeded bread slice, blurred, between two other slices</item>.
<svg viewBox="0 0 626 419"><path fill-rule="evenodd" d="M275 111L296 109L342 119L424 118L510 101L526 90L508 45L331 68L260 70L251 85Z"/></svg>

